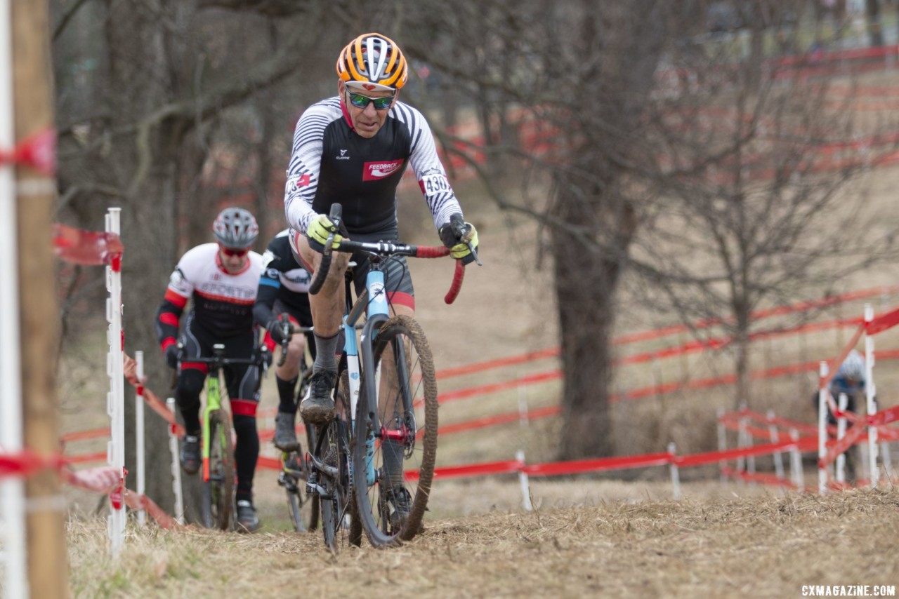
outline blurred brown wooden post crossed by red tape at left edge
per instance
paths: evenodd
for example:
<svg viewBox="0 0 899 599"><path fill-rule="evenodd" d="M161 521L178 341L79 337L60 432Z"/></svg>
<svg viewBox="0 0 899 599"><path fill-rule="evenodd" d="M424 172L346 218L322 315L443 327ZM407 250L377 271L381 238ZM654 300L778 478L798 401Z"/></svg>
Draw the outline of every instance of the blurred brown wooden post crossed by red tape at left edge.
<svg viewBox="0 0 899 599"><path fill-rule="evenodd" d="M13 0L13 106L15 137L53 128L53 92L46 0ZM22 323L24 443L41 455L60 450L56 364L59 317L51 242L56 180L31 166L16 168L19 293ZM68 595L65 504L55 471L26 483L28 579L33 597Z"/></svg>

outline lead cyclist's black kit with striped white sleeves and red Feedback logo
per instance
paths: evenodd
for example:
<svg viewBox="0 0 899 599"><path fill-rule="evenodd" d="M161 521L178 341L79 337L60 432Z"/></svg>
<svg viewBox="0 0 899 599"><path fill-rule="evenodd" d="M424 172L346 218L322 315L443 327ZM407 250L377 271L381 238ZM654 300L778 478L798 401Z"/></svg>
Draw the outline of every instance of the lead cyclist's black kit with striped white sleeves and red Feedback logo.
<svg viewBox="0 0 899 599"><path fill-rule="evenodd" d="M437 155L431 128L421 112L397 101L374 137L361 137L343 97L334 96L310 106L300 117L293 137L293 151L284 190L284 208L293 235L305 234L317 214L328 214L331 205L343 206L343 223L356 241L396 241L396 187L408 166L422 189L434 226L461 213L458 199ZM356 285L364 284L365 260ZM307 266L307 265L306 265ZM414 307L412 281L405 259L391 260L387 289L392 301ZM393 277L391 277L393 275Z"/></svg>

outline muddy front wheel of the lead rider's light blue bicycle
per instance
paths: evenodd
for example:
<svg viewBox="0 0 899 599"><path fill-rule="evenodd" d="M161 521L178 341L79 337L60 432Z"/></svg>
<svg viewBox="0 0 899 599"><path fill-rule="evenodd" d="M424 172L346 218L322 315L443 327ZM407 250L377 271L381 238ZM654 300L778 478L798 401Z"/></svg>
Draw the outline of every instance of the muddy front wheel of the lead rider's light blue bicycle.
<svg viewBox="0 0 899 599"><path fill-rule="evenodd" d="M422 530L437 459L437 380L418 322L398 315L372 341L377 397L362 385L353 445L353 492L369 542L383 547Z"/></svg>

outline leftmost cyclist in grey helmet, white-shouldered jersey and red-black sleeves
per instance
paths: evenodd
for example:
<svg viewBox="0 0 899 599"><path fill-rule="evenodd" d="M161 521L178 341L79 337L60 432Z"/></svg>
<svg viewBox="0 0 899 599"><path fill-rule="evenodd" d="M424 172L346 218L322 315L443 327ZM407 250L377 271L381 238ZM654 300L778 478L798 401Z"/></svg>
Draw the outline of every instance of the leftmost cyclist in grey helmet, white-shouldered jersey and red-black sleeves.
<svg viewBox="0 0 899 599"><path fill-rule="evenodd" d="M216 242L202 243L187 251L169 278L165 298L156 313L156 335L169 366L177 366L180 340L182 368L174 397L187 434L182 438L182 469L200 469L200 392L208 367L191 363L191 357L212 357L212 346L225 345L225 357L250 358L256 350L253 304L263 258L252 251L259 226L244 208L222 210L212 225ZM188 303L191 310L184 320ZM253 504L253 478L259 458L256 406L259 405L259 372L254 366L225 368L237 442L237 523L254 531L259 518Z"/></svg>

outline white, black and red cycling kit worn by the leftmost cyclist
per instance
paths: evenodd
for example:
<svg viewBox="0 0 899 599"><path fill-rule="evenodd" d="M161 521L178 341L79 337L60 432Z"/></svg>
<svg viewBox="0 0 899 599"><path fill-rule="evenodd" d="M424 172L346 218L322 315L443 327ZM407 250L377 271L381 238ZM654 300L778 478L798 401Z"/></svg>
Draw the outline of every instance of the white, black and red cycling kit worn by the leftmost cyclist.
<svg viewBox="0 0 899 599"><path fill-rule="evenodd" d="M156 336L165 352L177 342L182 313L188 301L191 302L191 312L181 335L184 357L174 392L184 427L191 435L200 430L200 392L209 372L208 365L191 362L191 357L211 357L215 343L225 345L226 357L250 358L256 350L253 305L263 257L255 251L247 257L245 268L232 275L221 263L218 243L204 243L187 251L178 261L156 313ZM237 436L237 495L249 498L259 457L255 418L259 405L259 369L232 365L223 370Z"/></svg>

